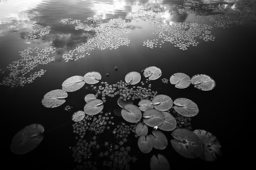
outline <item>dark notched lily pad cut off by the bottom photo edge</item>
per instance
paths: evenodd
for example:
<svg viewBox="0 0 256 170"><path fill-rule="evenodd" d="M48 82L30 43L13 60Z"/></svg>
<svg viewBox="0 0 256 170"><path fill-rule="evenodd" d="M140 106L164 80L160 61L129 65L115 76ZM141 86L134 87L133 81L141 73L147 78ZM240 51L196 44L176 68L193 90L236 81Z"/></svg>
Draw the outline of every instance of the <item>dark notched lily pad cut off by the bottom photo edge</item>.
<svg viewBox="0 0 256 170"><path fill-rule="evenodd" d="M162 154L157 154L157 157L153 155L150 159L151 170L170 170L170 164L166 157Z"/></svg>

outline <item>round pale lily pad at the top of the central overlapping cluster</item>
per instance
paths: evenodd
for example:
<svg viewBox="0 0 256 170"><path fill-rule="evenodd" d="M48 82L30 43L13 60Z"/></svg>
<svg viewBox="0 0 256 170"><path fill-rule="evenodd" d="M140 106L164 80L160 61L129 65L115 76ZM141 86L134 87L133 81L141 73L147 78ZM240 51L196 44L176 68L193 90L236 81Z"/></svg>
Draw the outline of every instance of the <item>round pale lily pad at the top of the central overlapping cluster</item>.
<svg viewBox="0 0 256 170"><path fill-rule="evenodd" d="M153 98L154 108L159 111L168 111L173 106L173 101L169 96L159 94Z"/></svg>

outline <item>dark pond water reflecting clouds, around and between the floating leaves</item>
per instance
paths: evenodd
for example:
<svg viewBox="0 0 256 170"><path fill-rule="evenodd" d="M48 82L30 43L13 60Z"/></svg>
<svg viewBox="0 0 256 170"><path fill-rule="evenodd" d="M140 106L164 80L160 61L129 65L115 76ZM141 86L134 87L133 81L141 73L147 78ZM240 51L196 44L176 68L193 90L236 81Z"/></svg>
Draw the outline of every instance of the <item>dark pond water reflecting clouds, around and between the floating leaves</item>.
<svg viewBox="0 0 256 170"><path fill-rule="evenodd" d="M243 10L240 1L198 1L200 6L196 6L193 11L192 5L188 2L195 1L149 1L152 6L166 6L167 13L161 13L162 21L166 26L174 26L171 23L198 23L211 26L208 42L196 39L198 45L190 46L188 49L181 50L175 47L174 43L165 42L161 47L153 49L143 46L144 41L161 38L154 35L154 31L161 28L149 26L149 21L136 13L138 6L144 6L148 1L68 1L68 0L6 0L0 1L0 92L1 92L1 154L4 157L3 163L9 164L8 169L79 169L78 163L74 161L72 147L75 147L78 140L73 133L73 120L71 119L75 111L83 110L85 106L84 97L86 94L94 93L90 85L85 85L82 89L68 93L66 103L58 108L46 108L42 105L43 96L51 90L61 89L61 84L68 77L74 75L85 75L87 72L100 72L101 81L108 84L116 84L117 81L124 81L128 72L139 72L142 74L142 81L146 78L141 72L149 66L156 66L161 69L161 78L149 81L153 91L158 94L166 94L173 100L176 98L189 98L194 101L199 108L199 113L191 118L193 130L202 129L215 135L222 146L222 156L215 162L203 162L201 159L187 159L181 157L171 147L171 132L165 132L169 145L164 150L153 149L149 154L143 154L137 147L137 138L130 137L124 143L124 147L130 146L130 157L136 157L137 161L129 162L129 169L150 169L149 162L153 154L163 154L173 168L219 168L223 164L242 164L245 150L242 149L242 140L245 133L241 128L245 127L245 121L240 111L240 100L244 93L242 77L247 72L247 65L250 60L248 54L253 52L255 40L255 3L247 1L247 13L238 13ZM180 4L185 10L178 13L174 9L174 4ZM184 5L185 4L185 5ZM206 7L217 8L218 5L226 5L229 10L230 18L218 18L213 10ZM235 5L236 4L236 5ZM245 5L243 4L243 5ZM188 8L188 6L192 6ZM203 7L206 6L206 7ZM233 6L231 8L231 6ZM250 6L250 8L248 7ZM229 9L228 9L229 8ZM232 11L233 10L233 11ZM250 12L249 12L250 11ZM147 12L152 12L148 10ZM134 14L135 13L135 14ZM221 13L220 16L222 16ZM134 16L135 15L135 16ZM231 17L233 15L233 18ZM164 19L164 16L166 19ZM196 17L198 16L198 17ZM225 15L223 15L225 16ZM74 24L64 25L60 23L63 18L72 18L82 21L88 17L98 17L102 23L90 23L89 26L96 28L100 24L107 23L112 18L125 20L130 27L130 33L122 35L129 40L128 45L120 45L117 49L88 50L90 55L85 55L78 60L65 62L63 54L69 54L70 50L79 47L88 40L97 37L95 30L75 30ZM239 18L239 19L238 19ZM235 22L237 21L237 23ZM238 22L239 21L239 22ZM220 26L220 23L223 25ZM219 25L218 25L219 24ZM41 35L36 39L25 38L33 30L32 26L49 26L50 32ZM180 32L176 32L180 33ZM189 36L189 35L188 35ZM204 36L204 35L201 35ZM178 35L176 35L178 39ZM95 38L94 40L99 40ZM104 41L104 40L101 40ZM110 42L116 43L119 42ZM37 64L30 72L26 72L24 79L28 78L40 69L46 70L42 77L37 77L30 84L20 86L18 77L9 77L14 73L9 69L11 62L21 60L20 52L28 47L38 47L40 51L46 47L55 47L54 53L50 56L55 61L48 64ZM80 54L79 54L80 55ZM114 67L118 70L115 71ZM211 91L201 91L192 85L186 89L176 89L174 85L164 84L162 78L169 80L172 74L183 72L189 77L196 74L206 74L215 81L215 88ZM107 77L106 74L110 74ZM21 75L20 75L21 76ZM7 79L6 77L9 77ZM4 81L4 80L9 81ZM6 83L7 82L7 83ZM16 82L16 83L8 83ZM95 84L97 86L99 84ZM14 87L11 87L14 86ZM87 88L85 88L87 87ZM104 113L110 112L114 117L114 126L127 123L122 117L114 115L114 108L118 108L116 99L107 97ZM109 101L108 101L109 100ZM72 106L70 111L65 111L65 106ZM39 123L45 128L44 138L36 149L23 155L16 155L11 152L11 140L26 125ZM111 130L110 129L110 133ZM90 133L89 133L90 134ZM107 132L102 136L103 141L115 144L114 138L106 137ZM104 137L105 136L105 137ZM100 142L99 142L100 143ZM101 141L102 143L102 141ZM82 159L82 162L97 162L98 160L108 159L107 157L98 158L99 152L93 152L96 156L90 159ZM100 163L99 163L100 162ZM81 163L80 163L81 164ZM85 163L86 164L86 163ZM96 163L95 163L96 164ZM102 164L98 161L97 164ZM173 167L174 166L174 167ZM102 167L102 166L97 166ZM103 166L106 168L106 166ZM91 169L89 167L83 169ZM110 168L112 169L112 167ZM118 168L117 168L118 169Z"/></svg>

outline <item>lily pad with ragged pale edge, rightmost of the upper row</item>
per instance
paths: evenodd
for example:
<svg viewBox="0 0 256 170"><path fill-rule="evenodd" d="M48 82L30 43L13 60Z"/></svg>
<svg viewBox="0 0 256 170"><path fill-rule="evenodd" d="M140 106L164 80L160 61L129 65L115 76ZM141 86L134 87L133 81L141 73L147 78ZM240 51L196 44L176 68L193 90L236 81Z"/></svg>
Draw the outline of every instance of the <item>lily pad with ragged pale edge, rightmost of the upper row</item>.
<svg viewBox="0 0 256 170"><path fill-rule="evenodd" d="M210 91L215 87L215 81L206 74L198 74L192 77L191 84L196 84L194 87L202 91Z"/></svg>

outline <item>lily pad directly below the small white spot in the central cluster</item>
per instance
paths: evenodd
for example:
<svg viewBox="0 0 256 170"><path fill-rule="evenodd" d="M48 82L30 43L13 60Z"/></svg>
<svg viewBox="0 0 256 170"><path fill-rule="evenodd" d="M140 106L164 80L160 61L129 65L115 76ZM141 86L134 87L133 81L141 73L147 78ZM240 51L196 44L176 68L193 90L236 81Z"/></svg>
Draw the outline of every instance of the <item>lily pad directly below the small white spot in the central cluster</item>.
<svg viewBox="0 0 256 170"><path fill-rule="evenodd" d="M166 135L160 130L152 130L152 134L150 136L153 140L153 147L156 149L165 149L168 145Z"/></svg>

